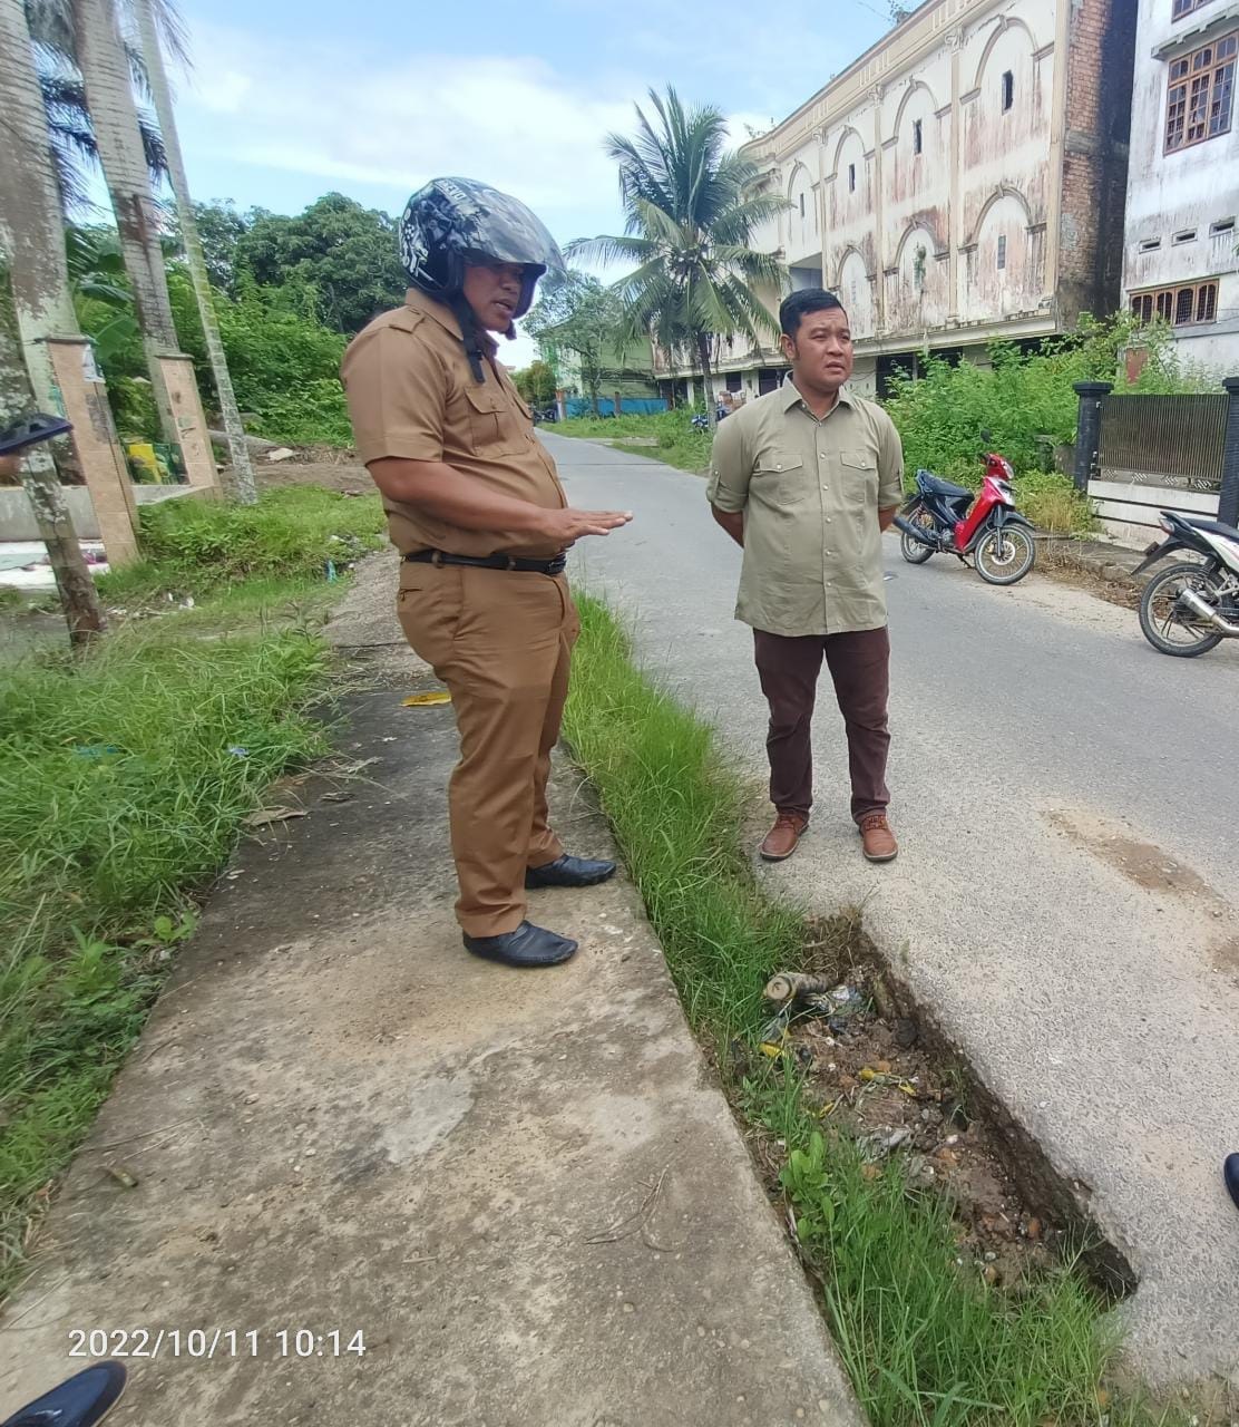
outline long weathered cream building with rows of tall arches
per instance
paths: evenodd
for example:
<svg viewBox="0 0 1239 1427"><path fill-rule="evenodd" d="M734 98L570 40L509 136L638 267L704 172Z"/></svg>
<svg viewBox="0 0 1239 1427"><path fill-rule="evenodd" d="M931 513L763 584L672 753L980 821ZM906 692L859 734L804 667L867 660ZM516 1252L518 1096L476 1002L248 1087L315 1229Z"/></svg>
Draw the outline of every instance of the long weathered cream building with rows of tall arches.
<svg viewBox="0 0 1239 1427"><path fill-rule="evenodd" d="M840 294L860 390L1118 304L1133 36L1131 0L927 0L746 146L790 203L754 245ZM770 390L741 347L726 385Z"/></svg>

